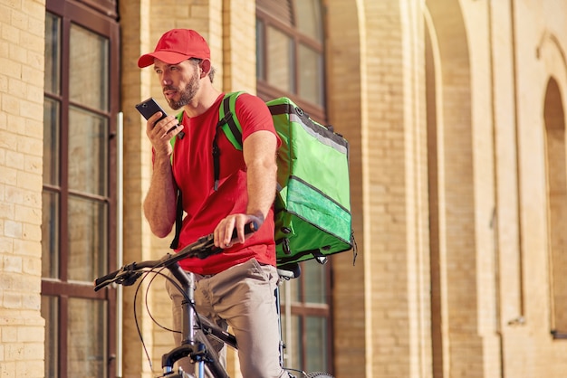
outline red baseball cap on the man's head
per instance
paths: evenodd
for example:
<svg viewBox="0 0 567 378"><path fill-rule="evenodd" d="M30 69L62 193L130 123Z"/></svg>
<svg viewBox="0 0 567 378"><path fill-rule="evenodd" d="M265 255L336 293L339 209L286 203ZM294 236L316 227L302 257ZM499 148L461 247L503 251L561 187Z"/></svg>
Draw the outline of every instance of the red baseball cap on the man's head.
<svg viewBox="0 0 567 378"><path fill-rule="evenodd" d="M139 57L138 67L148 67L155 59L168 64L178 64L189 58L210 59L207 41L194 30L173 29L159 38L154 52Z"/></svg>

